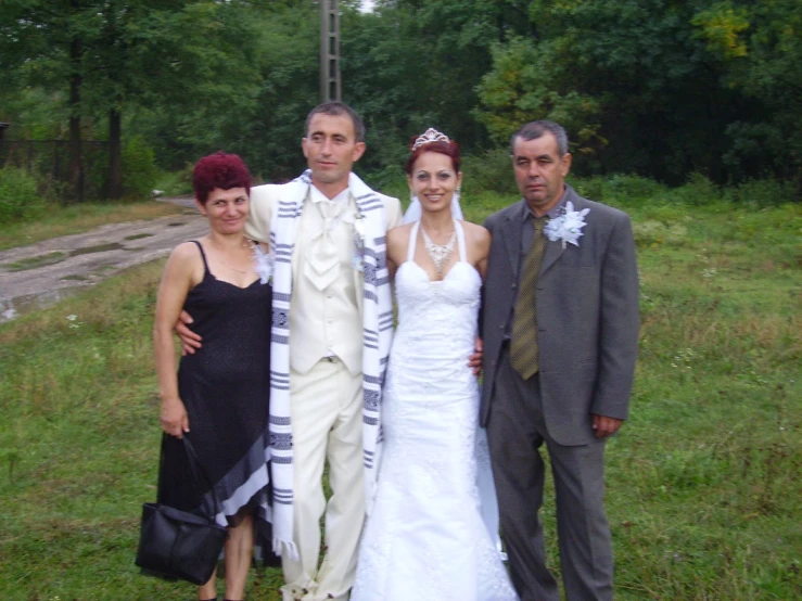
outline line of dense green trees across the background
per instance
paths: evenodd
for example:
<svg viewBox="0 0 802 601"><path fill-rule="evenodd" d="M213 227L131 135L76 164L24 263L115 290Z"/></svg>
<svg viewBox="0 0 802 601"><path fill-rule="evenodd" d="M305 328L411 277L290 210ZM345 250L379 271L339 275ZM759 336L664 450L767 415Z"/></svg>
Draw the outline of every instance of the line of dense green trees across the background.
<svg viewBox="0 0 802 601"><path fill-rule="evenodd" d="M341 0L343 100L366 120L360 169L395 177L409 138L501 153L550 118L582 175L679 184L774 178L802 191L799 0ZM225 149L294 177L318 102L314 0L3 0L7 138L109 140L107 191L137 139L163 169Z"/></svg>

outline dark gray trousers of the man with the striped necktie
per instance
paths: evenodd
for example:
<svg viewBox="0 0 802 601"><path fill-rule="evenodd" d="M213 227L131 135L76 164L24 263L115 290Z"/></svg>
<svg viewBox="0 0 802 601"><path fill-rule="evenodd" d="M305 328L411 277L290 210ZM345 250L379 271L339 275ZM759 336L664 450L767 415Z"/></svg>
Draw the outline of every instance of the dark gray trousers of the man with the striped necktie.
<svg viewBox="0 0 802 601"><path fill-rule="evenodd" d="M570 374L565 374L570 378ZM559 601L546 567L538 511L543 504L546 443L555 478L562 580L569 601L612 599L612 540L604 516L604 442L565 447L548 434L539 378L524 381L505 349L496 374L487 439L509 555L522 601Z"/></svg>

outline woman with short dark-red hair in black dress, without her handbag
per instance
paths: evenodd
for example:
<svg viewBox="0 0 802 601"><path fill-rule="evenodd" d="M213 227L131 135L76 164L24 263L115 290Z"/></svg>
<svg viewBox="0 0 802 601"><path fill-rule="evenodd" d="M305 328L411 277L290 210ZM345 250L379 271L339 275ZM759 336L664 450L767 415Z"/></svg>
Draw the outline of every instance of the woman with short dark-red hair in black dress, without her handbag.
<svg viewBox="0 0 802 601"><path fill-rule="evenodd" d="M251 175L239 156L202 158L192 183L209 231L170 254L153 332L165 432L158 501L229 527L226 599L239 600L255 526L268 517L269 256L244 234ZM182 357L176 374L173 327L183 309L203 347ZM192 476L183 436L209 483ZM199 587L198 598L217 598L216 575Z"/></svg>

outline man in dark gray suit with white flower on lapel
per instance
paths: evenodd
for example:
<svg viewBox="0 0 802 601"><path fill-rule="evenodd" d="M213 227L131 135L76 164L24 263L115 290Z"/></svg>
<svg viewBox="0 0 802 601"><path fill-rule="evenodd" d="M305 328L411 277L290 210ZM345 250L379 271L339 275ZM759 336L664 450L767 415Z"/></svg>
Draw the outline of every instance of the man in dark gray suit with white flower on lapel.
<svg viewBox="0 0 802 601"><path fill-rule="evenodd" d="M637 356L632 226L564 183L571 154L559 125L523 126L512 165L523 200L485 221L481 410L512 581L523 601L560 599L537 515L545 443L567 597L612 599L603 455L627 417Z"/></svg>

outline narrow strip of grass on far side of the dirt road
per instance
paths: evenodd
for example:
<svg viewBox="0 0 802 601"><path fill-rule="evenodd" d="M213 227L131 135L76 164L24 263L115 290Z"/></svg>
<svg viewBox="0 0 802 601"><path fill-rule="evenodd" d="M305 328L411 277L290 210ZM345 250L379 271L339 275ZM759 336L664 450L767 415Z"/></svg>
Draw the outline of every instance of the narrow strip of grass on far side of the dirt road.
<svg viewBox="0 0 802 601"><path fill-rule="evenodd" d="M184 209L170 203L153 201L139 203L49 204L26 221L0 222L0 251L24 246L73 233L89 231L106 223L122 223L139 219L155 219L180 215Z"/></svg>

